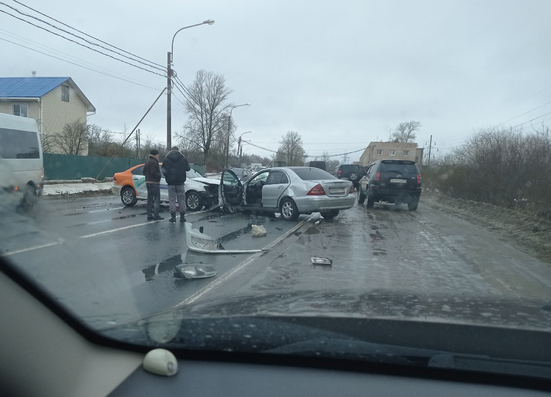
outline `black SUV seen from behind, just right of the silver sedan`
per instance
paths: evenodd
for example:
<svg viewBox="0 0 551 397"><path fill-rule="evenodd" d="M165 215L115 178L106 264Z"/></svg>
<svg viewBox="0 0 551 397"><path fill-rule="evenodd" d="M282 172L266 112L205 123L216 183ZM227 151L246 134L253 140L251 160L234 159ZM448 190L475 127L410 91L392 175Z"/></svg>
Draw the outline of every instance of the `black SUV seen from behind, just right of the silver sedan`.
<svg viewBox="0 0 551 397"><path fill-rule="evenodd" d="M407 203L415 211L421 197L421 175L414 161L377 160L360 180L358 203L366 202L372 208L375 201Z"/></svg>

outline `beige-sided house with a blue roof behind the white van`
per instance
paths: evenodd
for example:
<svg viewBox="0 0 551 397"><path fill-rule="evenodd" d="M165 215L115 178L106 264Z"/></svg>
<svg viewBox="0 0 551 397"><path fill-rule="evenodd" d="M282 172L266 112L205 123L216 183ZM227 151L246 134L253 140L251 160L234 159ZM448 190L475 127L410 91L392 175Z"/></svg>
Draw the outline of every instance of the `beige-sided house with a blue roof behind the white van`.
<svg viewBox="0 0 551 397"><path fill-rule="evenodd" d="M86 123L87 115L95 112L70 77L0 78L0 113L36 119L43 136L61 134L63 126L75 120Z"/></svg>

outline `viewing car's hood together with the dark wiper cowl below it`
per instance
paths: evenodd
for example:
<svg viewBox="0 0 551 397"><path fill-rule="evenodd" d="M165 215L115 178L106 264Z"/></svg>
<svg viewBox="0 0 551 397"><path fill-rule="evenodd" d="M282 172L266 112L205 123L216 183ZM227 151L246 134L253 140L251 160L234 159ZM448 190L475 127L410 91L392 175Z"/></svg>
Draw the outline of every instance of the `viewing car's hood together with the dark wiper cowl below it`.
<svg viewBox="0 0 551 397"><path fill-rule="evenodd" d="M462 360L463 369L477 371L495 365L488 360L539 360L545 362L542 376L551 378L550 310L545 302L499 297L279 291L207 299L100 332L133 345L188 352L261 352L450 368ZM510 372L533 374L536 366L511 367ZM502 366L496 371L509 370Z"/></svg>

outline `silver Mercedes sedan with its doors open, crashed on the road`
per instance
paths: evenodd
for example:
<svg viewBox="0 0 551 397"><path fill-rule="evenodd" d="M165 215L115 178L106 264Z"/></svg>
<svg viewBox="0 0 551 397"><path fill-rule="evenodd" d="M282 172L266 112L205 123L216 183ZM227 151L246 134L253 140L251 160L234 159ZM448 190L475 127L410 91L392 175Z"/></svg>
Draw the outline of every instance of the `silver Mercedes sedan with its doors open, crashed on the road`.
<svg viewBox="0 0 551 397"><path fill-rule="evenodd" d="M278 167L261 170L241 180L231 170L220 176L219 204L237 211L279 212L285 220L320 212L334 218L341 209L354 206L352 182L319 168Z"/></svg>

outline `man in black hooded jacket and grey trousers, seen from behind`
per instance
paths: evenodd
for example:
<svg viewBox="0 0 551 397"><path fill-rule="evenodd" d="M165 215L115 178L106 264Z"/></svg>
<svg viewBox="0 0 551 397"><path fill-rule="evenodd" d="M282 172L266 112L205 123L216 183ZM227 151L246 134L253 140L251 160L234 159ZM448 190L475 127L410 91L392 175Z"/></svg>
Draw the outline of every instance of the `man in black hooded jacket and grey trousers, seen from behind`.
<svg viewBox="0 0 551 397"><path fill-rule="evenodd" d="M176 200L180 206L180 222L186 222L186 189L183 184L189 170L186 156L173 146L163 161L163 174L169 190L170 222L176 222Z"/></svg>

